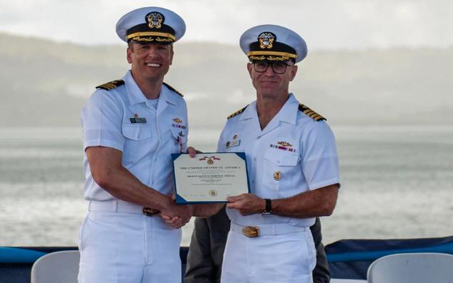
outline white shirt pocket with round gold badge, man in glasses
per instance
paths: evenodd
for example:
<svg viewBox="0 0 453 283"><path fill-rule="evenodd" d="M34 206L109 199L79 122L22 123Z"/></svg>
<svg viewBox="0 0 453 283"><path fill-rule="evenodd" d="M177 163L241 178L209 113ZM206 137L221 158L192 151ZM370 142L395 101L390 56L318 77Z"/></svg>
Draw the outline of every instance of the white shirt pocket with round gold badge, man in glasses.
<svg viewBox="0 0 453 283"><path fill-rule="evenodd" d="M290 151L268 148L264 152L264 183L274 191L290 190L300 166L299 155ZM299 172L301 174L302 172Z"/></svg>

